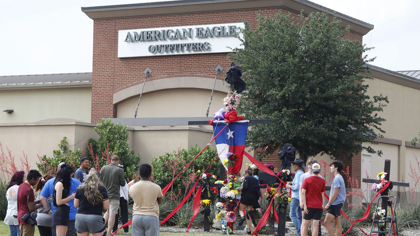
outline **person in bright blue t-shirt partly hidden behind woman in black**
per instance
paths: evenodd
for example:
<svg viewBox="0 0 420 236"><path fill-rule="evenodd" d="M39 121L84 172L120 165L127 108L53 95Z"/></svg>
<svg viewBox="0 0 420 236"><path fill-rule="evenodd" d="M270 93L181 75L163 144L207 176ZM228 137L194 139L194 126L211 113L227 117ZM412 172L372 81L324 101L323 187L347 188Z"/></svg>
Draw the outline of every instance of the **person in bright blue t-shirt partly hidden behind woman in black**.
<svg viewBox="0 0 420 236"><path fill-rule="evenodd" d="M58 170L60 170L61 165L64 163L60 163L58 164ZM40 201L42 202L42 205L44 206L45 210L47 210L48 212L51 212L51 215L53 215L54 211L55 211L55 206L53 204L53 201L51 201L51 205L49 206L47 204L47 198L49 198L51 196L51 194L53 193L54 190L54 178L50 178L44 185L44 187L42 188L41 191L41 197L40 197ZM70 178L70 191L69 195L71 195L71 193L76 192L77 187L79 187L79 185L81 184L80 181L78 181L75 178ZM67 226L67 233L66 236L76 236L76 229L74 228L74 223L76 221L76 211L77 208L74 207L74 199L71 199L68 202L68 206L70 207L70 215L69 215L69 220L68 220L68 226ZM50 210L48 210L50 209ZM53 234L53 236L56 236L56 229L55 226L52 227L51 233Z"/></svg>

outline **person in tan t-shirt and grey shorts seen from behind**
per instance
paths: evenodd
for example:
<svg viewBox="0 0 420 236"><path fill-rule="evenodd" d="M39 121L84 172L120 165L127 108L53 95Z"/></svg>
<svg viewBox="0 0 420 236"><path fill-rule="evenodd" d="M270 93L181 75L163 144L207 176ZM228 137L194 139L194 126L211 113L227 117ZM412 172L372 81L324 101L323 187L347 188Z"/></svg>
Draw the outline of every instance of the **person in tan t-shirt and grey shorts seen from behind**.
<svg viewBox="0 0 420 236"><path fill-rule="evenodd" d="M159 204L162 203L160 186L150 182L152 166L139 167L140 181L131 185L129 195L134 200L132 234L136 236L159 235Z"/></svg>

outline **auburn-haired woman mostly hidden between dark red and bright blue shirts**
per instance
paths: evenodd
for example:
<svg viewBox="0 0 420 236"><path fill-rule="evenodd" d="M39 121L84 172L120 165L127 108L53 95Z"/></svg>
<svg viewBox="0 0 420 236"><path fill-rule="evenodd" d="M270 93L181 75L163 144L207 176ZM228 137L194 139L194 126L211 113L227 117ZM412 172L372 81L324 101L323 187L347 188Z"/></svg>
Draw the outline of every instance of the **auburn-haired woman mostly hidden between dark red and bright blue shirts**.
<svg viewBox="0 0 420 236"><path fill-rule="evenodd" d="M37 200L41 198L41 190L44 187L45 183L54 176L44 175L38 180L37 185L35 185L35 193L37 193ZM47 200L48 205L51 204L51 200ZM40 236L52 236L51 227L53 226L53 216L51 214L51 208L45 210L42 206L38 209L37 215L37 226Z"/></svg>

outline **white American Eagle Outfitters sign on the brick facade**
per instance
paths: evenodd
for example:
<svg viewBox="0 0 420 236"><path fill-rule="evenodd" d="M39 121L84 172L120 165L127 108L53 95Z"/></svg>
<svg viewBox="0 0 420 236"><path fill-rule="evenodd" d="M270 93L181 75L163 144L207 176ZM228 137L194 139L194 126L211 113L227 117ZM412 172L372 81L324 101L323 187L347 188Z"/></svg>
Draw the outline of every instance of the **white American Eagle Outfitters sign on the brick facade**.
<svg viewBox="0 0 420 236"><path fill-rule="evenodd" d="M118 58L232 52L244 23L118 31Z"/></svg>

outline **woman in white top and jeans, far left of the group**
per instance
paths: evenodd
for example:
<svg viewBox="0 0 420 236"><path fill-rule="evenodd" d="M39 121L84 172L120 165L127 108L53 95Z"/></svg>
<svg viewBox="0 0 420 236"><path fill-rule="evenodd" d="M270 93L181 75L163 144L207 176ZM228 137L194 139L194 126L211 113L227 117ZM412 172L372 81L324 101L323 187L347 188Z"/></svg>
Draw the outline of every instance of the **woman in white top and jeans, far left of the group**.
<svg viewBox="0 0 420 236"><path fill-rule="evenodd" d="M16 171L9 185L6 188L7 210L4 223L9 226L10 236L20 236L18 219L13 215L18 215L18 188L24 182L25 172Z"/></svg>

